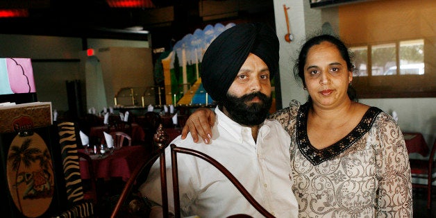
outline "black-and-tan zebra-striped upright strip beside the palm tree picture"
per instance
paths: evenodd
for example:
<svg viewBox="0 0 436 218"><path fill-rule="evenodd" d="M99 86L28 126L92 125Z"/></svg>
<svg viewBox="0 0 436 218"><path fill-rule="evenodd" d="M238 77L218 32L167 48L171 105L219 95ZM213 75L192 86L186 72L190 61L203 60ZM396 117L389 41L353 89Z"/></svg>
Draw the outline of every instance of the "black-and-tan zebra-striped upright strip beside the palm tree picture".
<svg viewBox="0 0 436 218"><path fill-rule="evenodd" d="M92 199L85 199L81 180L76 141L76 124L62 121L58 123L60 155L67 190L67 206L58 217L93 217L95 203Z"/></svg>

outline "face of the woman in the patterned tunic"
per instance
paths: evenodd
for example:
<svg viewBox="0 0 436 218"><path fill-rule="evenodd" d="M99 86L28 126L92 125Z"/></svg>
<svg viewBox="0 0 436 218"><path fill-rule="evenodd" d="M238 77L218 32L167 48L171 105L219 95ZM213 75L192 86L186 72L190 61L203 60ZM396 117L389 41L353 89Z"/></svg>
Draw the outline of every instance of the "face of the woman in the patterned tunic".
<svg viewBox="0 0 436 218"><path fill-rule="evenodd" d="M346 91L353 74L334 44L321 42L308 51L304 81L314 105L331 108L350 101Z"/></svg>

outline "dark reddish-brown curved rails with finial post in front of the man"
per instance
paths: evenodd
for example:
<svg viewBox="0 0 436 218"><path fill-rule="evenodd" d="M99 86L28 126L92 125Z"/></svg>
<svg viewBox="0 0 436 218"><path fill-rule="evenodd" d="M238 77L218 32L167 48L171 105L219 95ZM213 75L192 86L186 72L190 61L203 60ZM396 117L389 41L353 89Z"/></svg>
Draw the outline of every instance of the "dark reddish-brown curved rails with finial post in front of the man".
<svg viewBox="0 0 436 218"><path fill-rule="evenodd" d="M157 133L154 135L153 139L155 140L157 144L156 153L149 159L144 160L140 165L137 166L135 171L133 171L133 174L131 178L126 183L126 186L124 187L124 190L121 192L121 196L119 198L119 201L117 202L117 205L115 206L115 209L112 212L112 218L119 217L119 212L121 211L121 208L124 204L124 201L128 197L128 193L131 192L133 189L133 185L137 183L137 178L139 177L141 171L144 169L149 169L151 165L159 158L160 159L160 181L161 181L161 192L162 192L162 210L163 210L163 217L169 217L168 212L168 198L167 198L167 176L166 176L166 167L165 167L165 148L168 146L168 135L165 133L164 128L162 124L160 124ZM255 201L253 196L249 194L249 192L244 188L244 186L233 176L233 174L230 173L223 165L221 165L217 160L211 158L210 156L206 155L205 153L202 153L200 151L195 151L192 149L185 149L176 146L175 144L171 144L171 168L172 168L172 175L173 175L173 190L174 190L174 208L180 208L180 201L176 200L179 199L178 194L178 166L177 166L177 153L185 153L188 155L193 155L196 157L199 157L203 160L206 160L211 165L219 169L232 183L237 187L237 190L239 190L242 195L253 205L253 207L258 210L262 215L265 217L274 217L269 213L265 208L260 206L260 204ZM142 174L143 176L143 174ZM144 179L145 181L145 179ZM128 203L128 205L132 205L132 201ZM132 212L135 210L135 208L129 208L129 211ZM181 217L180 210L176 210L175 217ZM232 215L229 217L249 217L248 215L238 214L238 215Z"/></svg>

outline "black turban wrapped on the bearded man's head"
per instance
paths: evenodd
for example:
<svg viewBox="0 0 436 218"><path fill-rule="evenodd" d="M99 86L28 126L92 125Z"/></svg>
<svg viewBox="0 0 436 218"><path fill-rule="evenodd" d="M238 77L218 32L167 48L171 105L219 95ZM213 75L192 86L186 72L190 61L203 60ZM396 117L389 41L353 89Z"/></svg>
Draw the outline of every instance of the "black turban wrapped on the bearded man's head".
<svg viewBox="0 0 436 218"><path fill-rule="evenodd" d="M249 53L262 59L270 78L278 70L278 38L266 24L238 24L212 41L201 61L201 83L215 101L222 101Z"/></svg>

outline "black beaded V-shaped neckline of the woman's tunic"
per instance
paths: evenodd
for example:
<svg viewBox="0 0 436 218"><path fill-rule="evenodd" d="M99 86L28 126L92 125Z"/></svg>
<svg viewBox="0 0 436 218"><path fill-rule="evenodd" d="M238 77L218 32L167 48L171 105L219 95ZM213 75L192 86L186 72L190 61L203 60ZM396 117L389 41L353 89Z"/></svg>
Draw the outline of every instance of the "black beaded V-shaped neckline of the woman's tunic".
<svg viewBox="0 0 436 218"><path fill-rule="evenodd" d="M353 131L335 144L319 150L309 142L307 123L309 108L309 103L305 103L299 109L296 122L296 143L298 144L301 153L303 153L303 156L305 156L312 165L319 165L321 162L329 160L330 158L339 155L339 153L344 152L346 149L349 149L352 144L369 131L371 126L374 124L377 115L382 112L382 110L376 107L369 108L363 115L359 124L353 128Z"/></svg>

